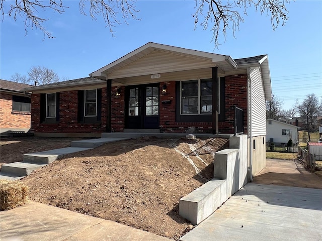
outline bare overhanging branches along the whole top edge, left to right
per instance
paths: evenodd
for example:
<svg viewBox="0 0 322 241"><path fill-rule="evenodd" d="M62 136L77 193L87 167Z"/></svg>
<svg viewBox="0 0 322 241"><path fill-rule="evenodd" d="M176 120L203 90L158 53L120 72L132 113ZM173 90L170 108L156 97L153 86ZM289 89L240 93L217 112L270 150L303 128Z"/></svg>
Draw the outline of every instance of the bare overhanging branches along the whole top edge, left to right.
<svg viewBox="0 0 322 241"><path fill-rule="evenodd" d="M219 45L220 34L226 39L227 29L231 29L234 36L235 31L239 29L239 24L244 22L244 15L247 10L255 8L262 15L270 17L273 30L280 23L282 25L288 20L288 11L285 4L291 0L195 0L195 10L193 14L195 28L202 26L213 32L213 41L216 46ZM43 23L47 21L45 17L40 16L40 12L52 10L59 14L63 14L68 8L63 2L66 0L17 0L10 2L7 10L4 7L5 0L0 0L0 13L3 18L5 14L13 17L24 18L25 31L31 27L39 28L45 36L53 38ZM106 27L109 28L113 35L113 28L116 24L120 24L121 20L127 23L128 20L138 20L136 14L139 12L135 7L135 0L79 0L79 11L81 14L89 15L96 20L98 16L102 16ZM8 4L9 5L9 4Z"/></svg>

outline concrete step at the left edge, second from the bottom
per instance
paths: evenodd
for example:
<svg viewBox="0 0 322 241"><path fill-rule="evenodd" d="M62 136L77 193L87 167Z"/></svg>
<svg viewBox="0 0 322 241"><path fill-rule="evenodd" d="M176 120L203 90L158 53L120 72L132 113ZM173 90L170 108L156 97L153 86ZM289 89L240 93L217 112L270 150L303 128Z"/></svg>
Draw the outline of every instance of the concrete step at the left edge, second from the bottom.
<svg viewBox="0 0 322 241"><path fill-rule="evenodd" d="M27 162L13 162L1 166L1 172L13 176L27 176L34 170L46 166L46 164L34 164Z"/></svg>

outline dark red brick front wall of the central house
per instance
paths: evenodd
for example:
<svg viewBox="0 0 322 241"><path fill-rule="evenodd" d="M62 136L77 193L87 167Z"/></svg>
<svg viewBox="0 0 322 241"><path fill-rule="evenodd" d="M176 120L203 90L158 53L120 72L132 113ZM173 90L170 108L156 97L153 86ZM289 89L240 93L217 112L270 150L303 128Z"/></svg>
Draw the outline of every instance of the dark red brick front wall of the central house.
<svg viewBox="0 0 322 241"><path fill-rule="evenodd" d="M167 94L162 94L163 85L167 85ZM116 90L121 95L116 96ZM185 133L195 128L197 133L212 133L211 122L176 122L176 81L161 82L159 85L159 129L162 133ZM112 87L111 130L124 131L125 86ZM179 97L179 96L178 96ZM179 97L180 98L180 97ZM170 101L163 103L162 101ZM59 123L40 123L40 94L32 95L31 128L34 132L44 133L102 133L106 132L107 118L106 88L102 88L102 120L100 124L77 123L77 91L60 92ZM247 134L247 74L225 77L225 122L218 122L219 134L234 133L234 105L244 110L244 133Z"/></svg>

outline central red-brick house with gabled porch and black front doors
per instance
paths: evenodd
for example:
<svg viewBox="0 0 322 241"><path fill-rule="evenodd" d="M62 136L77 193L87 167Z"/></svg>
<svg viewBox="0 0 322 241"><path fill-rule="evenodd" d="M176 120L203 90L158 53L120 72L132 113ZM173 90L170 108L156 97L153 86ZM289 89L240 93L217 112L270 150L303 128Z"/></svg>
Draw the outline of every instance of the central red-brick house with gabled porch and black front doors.
<svg viewBox="0 0 322 241"><path fill-rule="evenodd" d="M244 133L252 160L265 159L267 55L234 60L150 42L90 76L27 89L35 135Z"/></svg>

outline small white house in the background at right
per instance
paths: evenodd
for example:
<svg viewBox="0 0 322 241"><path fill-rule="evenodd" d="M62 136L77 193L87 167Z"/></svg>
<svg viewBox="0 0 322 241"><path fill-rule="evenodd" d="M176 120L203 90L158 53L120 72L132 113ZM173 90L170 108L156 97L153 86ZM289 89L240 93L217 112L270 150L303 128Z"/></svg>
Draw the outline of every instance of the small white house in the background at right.
<svg viewBox="0 0 322 241"><path fill-rule="evenodd" d="M274 119L267 119L266 121L266 137L267 142L287 145L287 142L292 139L293 144L298 143L298 129L293 125L278 122Z"/></svg>

